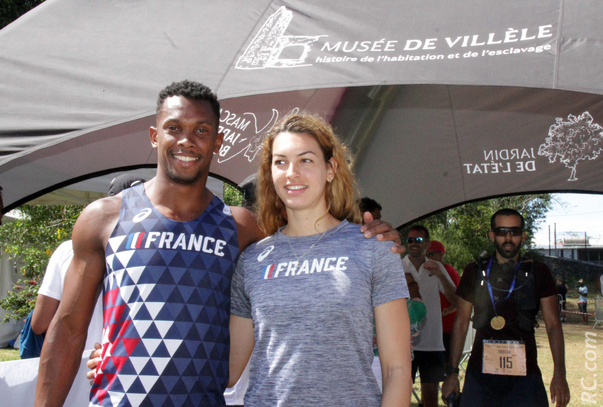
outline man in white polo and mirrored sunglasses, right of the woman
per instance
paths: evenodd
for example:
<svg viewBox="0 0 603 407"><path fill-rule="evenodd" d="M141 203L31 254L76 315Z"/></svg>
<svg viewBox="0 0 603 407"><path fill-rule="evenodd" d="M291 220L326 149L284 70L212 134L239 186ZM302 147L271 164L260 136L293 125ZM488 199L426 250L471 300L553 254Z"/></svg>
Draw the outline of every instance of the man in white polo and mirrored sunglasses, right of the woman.
<svg viewBox="0 0 603 407"><path fill-rule="evenodd" d="M440 262L426 257L429 247L429 230L412 225L406 236L406 257L402 259L404 271L411 273L418 283L419 292L427 308L421 333L412 339L412 380L417 370L421 379L421 402L425 407L438 405L438 383L444 380L444 342L440 292L456 304L455 285Z"/></svg>

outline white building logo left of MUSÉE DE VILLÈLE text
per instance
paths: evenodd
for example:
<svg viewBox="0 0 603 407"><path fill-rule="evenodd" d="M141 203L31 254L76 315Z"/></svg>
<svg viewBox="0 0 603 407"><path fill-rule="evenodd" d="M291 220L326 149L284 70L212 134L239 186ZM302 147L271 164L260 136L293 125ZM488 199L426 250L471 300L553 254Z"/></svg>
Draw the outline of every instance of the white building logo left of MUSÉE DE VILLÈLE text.
<svg viewBox="0 0 603 407"><path fill-rule="evenodd" d="M311 44L326 36L284 36L293 13L283 5L268 17L235 68L264 69L306 66Z"/></svg>

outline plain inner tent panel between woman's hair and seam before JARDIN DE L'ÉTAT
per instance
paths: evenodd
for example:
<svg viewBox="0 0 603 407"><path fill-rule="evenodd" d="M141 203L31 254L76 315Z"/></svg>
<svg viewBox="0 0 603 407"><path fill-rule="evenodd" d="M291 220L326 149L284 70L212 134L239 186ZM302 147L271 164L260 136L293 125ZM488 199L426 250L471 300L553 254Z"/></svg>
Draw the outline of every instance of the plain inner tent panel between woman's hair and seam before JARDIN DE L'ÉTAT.
<svg viewBox="0 0 603 407"><path fill-rule="evenodd" d="M402 86L356 168L362 196L394 226L467 200L447 88Z"/></svg>

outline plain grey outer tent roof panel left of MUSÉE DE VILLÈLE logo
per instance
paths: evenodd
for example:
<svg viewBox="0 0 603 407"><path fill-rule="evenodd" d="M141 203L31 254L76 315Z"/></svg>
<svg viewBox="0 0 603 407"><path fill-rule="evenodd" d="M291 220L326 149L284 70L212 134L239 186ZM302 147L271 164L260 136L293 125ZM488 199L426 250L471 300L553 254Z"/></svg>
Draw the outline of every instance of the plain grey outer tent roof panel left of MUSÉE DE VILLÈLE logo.
<svg viewBox="0 0 603 407"><path fill-rule="evenodd" d="M48 0L0 31L0 130L151 113L159 90L185 78L215 90L267 4Z"/></svg>

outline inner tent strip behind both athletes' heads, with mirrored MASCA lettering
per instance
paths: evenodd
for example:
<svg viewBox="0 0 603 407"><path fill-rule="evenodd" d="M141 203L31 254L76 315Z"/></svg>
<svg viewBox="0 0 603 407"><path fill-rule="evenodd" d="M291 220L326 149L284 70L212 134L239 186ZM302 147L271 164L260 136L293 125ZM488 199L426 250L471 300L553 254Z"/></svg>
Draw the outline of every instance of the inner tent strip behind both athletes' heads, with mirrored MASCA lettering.
<svg viewBox="0 0 603 407"><path fill-rule="evenodd" d="M298 109L328 118L343 92L341 88L303 90L221 101L219 131L225 137L223 148L214 154L212 173L234 183L241 182L256 171L264 133L280 116ZM149 139L149 127L155 124L153 115L87 133L75 132L29 154L5 158L0 166L5 206L24 203L45 188L87 174L156 164L157 153Z"/></svg>

